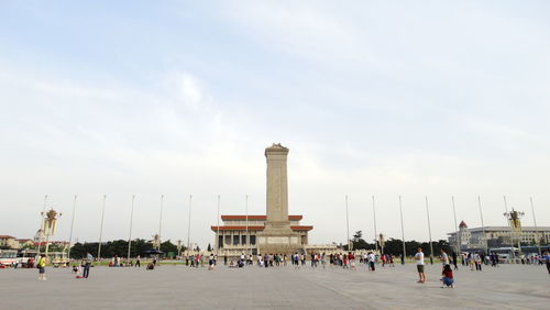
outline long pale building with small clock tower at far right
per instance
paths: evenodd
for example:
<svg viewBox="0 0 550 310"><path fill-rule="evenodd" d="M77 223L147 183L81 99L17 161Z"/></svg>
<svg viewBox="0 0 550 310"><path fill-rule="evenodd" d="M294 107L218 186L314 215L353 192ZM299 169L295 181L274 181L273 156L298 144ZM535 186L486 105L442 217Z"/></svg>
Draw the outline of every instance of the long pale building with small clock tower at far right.
<svg viewBox="0 0 550 310"><path fill-rule="evenodd" d="M485 233L485 234L484 234ZM457 245L457 237L461 251L470 248L484 248L485 240L488 247L507 247L510 246L510 228L509 226L485 226L469 229L464 221L460 222L459 232L448 233L449 244ZM517 239L520 237L524 244L536 244L541 241L542 244L550 243L550 226L524 226L521 235L514 234L514 245L517 246Z"/></svg>

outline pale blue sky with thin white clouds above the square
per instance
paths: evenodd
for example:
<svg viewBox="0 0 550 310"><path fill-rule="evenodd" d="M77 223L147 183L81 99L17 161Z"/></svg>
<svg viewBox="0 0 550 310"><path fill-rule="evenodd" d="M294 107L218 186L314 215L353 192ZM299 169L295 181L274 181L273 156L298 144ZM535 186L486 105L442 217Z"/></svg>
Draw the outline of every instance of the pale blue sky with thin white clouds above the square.
<svg viewBox="0 0 550 310"><path fill-rule="evenodd" d="M289 147L309 242L550 226L548 1L0 1L0 234L206 246ZM193 199L189 204L189 196ZM189 206L191 208L190 229ZM190 231L190 235L187 231Z"/></svg>

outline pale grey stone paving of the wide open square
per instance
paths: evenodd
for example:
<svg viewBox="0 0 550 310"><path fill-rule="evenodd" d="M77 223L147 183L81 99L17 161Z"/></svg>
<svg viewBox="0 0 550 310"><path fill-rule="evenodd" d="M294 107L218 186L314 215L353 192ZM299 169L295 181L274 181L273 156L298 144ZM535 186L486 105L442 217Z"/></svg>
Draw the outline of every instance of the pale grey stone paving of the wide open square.
<svg viewBox="0 0 550 310"><path fill-rule="evenodd" d="M68 268L0 269L0 309L549 309L550 275L542 266L502 265L455 272L440 288L439 265L342 268L94 267L88 279Z"/></svg>

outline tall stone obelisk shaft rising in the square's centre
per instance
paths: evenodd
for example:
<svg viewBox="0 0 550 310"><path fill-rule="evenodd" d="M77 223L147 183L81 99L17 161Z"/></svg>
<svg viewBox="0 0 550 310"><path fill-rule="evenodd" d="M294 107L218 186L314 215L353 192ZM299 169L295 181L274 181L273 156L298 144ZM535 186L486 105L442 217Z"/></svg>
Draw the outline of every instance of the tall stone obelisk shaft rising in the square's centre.
<svg viewBox="0 0 550 310"><path fill-rule="evenodd" d="M288 179L286 158L288 148L278 144L265 148L267 159L266 226L290 230L288 221Z"/></svg>

